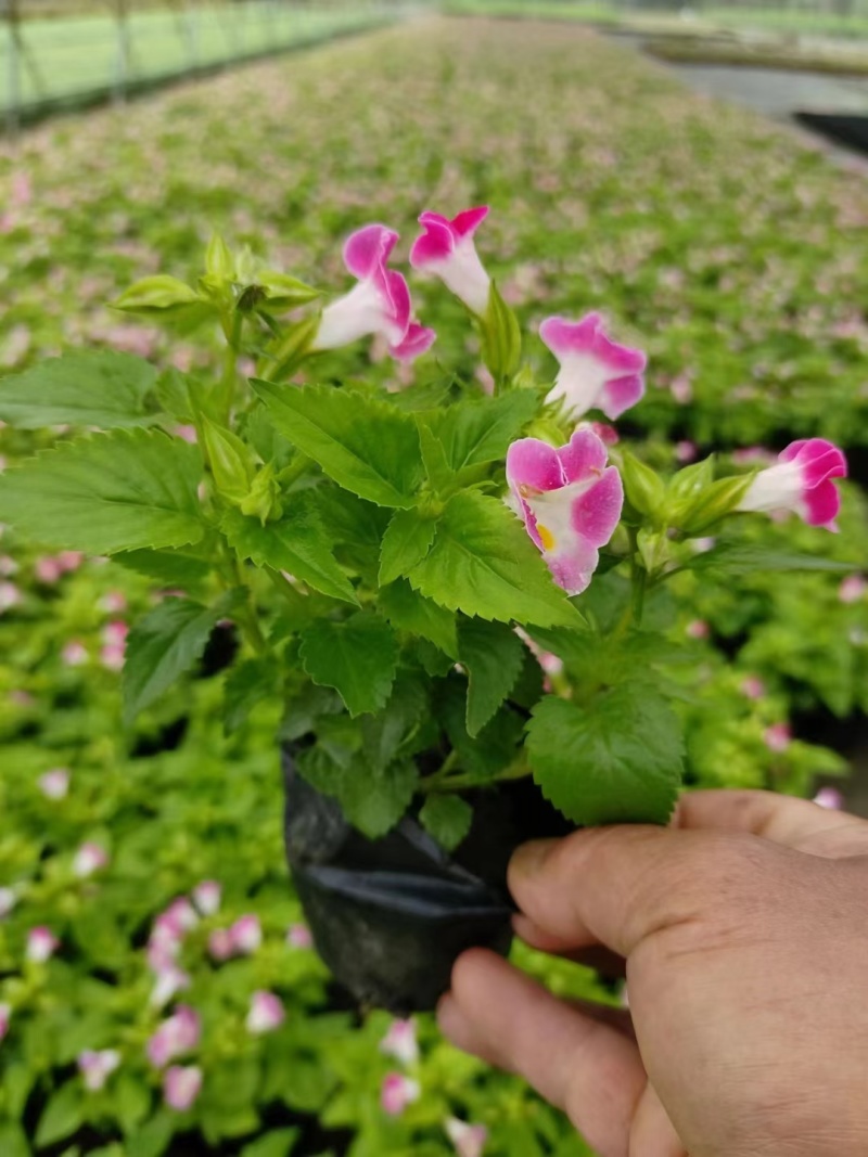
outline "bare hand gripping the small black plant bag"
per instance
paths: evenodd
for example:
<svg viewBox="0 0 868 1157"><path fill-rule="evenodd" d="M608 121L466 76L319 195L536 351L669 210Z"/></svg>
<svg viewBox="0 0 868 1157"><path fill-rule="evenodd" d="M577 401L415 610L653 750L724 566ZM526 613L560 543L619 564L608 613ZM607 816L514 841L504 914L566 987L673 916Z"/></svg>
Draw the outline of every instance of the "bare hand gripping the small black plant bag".
<svg viewBox="0 0 868 1157"><path fill-rule="evenodd" d="M529 944L626 961L630 1012L567 1004L473 950L441 1027L601 1157L868 1155L868 821L699 791L670 828L528 843L509 886Z"/></svg>

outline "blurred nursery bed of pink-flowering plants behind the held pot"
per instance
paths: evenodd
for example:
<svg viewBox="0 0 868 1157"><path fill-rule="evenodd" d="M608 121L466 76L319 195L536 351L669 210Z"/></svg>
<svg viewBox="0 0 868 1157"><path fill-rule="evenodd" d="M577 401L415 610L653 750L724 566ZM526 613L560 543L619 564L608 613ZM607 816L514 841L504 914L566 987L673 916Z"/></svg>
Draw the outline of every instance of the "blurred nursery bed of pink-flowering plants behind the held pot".
<svg viewBox="0 0 868 1157"><path fill-rule="evenodd" d="M846 774L838 736L868 712L859 174L580 28L462 20L46 124L3 146L0 180L8 374L81 346L214 370L216 332L110 303L156 273L194 285L215 229L337 293L352 230L387 222L405 258L421 209L488 204L477 245L525 333L599 308L647 351L619 435L649 466L715 451L730 472L834 441L853 476L838 535L751 522L722 570L685 566L648 616L682 656L689 783L812 795ZM356 344L326 384L485 384L463 308L431 280L412 289L432 351L405 368ZM553 376L542 342L525 355ZM66 436L6 418L9 470ZM128 625L155 606L146 576L24 530L0 538L3 1157L586 1157L559 1113L429 1017L359 1010L330 980L284 864L285 705L236 697L227 716L247 646L231 624L215 616L203 656L168 694L142 692L131 723L120 678ZM576 600L599 621L620 598L602 572ZM197 578L187 566L171 585ZM559 992L619 1000L517 958Z"/></svg>

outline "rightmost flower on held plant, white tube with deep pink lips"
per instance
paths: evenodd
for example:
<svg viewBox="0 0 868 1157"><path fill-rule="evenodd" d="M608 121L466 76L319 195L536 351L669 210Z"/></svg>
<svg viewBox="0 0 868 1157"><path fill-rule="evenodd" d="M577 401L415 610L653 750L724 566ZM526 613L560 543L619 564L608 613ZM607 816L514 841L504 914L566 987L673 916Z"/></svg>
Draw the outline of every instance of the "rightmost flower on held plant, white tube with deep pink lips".
<svg viewBox="0 0 868 1157"><path fill-rule="evenodd" d="M832 479L846 476L847 459L832 442L819 437L790 442L774 466L760 470L738 509L794 510L809 526L837 530L841 500Z"/></svg>

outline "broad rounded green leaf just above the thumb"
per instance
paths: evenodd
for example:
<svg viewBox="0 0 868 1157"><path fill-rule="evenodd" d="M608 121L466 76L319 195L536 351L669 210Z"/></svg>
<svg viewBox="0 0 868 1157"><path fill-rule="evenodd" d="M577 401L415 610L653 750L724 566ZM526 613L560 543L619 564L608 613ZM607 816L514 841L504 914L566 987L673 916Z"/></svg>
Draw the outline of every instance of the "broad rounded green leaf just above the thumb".
<svg viewBox="0 0 868 1157"><path fill-rule="evenodd" d="M528 724L543 795L576 824L664 824L678 795L678 716L654 688L625 684L587 705L547 695Z"/></svg>

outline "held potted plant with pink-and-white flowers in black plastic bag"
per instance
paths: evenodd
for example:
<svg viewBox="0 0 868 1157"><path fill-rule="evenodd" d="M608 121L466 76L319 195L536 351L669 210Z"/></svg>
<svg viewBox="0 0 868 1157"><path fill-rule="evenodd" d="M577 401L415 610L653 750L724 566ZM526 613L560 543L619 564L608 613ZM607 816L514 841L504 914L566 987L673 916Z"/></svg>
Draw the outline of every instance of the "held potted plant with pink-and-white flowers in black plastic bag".
<svg viewBox="0 0 868 1157"><path fill-rule="evenodd" d="M559 370L537 378L476 250L486 213L424 213L411 251L464 303L486 386L439 363L405 389L316 384L363 337L399 360L434 340L380 224L348 238L355 286L325 303L220 237L194 286L123 294L219 324L214 381L86 351L0 382L0 419L62 427L0 480L0 518L161 592L128 638L127 720L235 624L226 728L286 705L287 850L316 944L360 1000L402 1012L436 1001L463 949L506 951L517 842L667 821L684 691L665 672L690 658L660 626L671 577L804 565L740 544L737 517L833 528L846 473L814 439L764 470L661 477L609 425L641 399L645 355L597 314L553 317L539 338Z"/></svg>

